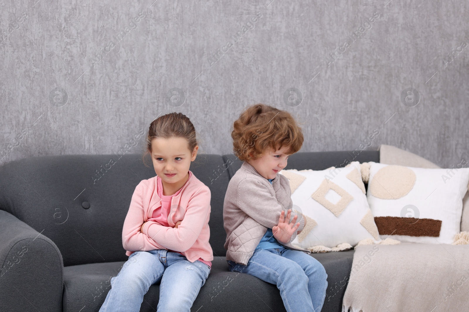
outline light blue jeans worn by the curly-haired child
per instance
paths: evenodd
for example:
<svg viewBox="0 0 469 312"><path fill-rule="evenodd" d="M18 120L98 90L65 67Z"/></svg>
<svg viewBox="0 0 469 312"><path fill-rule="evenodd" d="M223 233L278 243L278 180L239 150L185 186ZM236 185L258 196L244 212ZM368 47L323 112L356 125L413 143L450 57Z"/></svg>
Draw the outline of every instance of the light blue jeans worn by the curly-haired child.
<svg viewBox="0 0 469 312"><path fill-rule="evenodd" d="M303 251L285 247L256 249L248 265L228 260L231 272L247 273L277 285L287 312L320 312L327 289L322 264Z"/></svg>

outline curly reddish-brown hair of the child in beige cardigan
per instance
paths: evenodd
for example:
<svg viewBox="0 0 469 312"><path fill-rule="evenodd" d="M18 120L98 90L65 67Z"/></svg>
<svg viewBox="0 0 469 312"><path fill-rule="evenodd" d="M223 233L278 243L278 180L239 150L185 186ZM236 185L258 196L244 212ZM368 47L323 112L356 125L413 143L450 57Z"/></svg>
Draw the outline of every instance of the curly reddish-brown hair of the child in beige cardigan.
<svg viewBox="0 0 469 312"><path fill-rule="evenodd" d="M303 132L287 111L262 103L247 107L233 124L234 155L239 160L256 160L267 150L288 146L294 154L303 145ZM252 155L250 155L252 154Z"/></svg>

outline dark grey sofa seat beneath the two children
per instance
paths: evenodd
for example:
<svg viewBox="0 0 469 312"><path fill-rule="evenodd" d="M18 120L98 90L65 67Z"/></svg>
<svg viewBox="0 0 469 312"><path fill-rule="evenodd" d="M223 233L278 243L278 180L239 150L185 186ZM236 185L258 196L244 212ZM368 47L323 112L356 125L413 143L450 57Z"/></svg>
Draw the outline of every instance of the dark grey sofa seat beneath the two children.
<svg viewBox="0 0 469 312"><path fill-rule="evenodd" d="M337 312L348 283L354 250L314 254L327 272L328 287L322 312ZM98 311L124 261L75 265L64 268L63 311ZM159 285L144 296L141 312L156 311ZM262 304L262 302L264 304ZM229 272L225 257L215 257L212 270L192 305L193 311L272 312L285 311L276 285L245 273ZM200 309L200 310L198 310Z"/></svg>

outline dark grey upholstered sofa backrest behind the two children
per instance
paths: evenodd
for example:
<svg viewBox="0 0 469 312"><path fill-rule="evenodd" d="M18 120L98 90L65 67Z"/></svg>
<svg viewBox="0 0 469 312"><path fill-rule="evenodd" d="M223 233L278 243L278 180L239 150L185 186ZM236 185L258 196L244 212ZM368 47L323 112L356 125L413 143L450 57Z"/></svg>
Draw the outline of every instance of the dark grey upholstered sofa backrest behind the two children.
<svg viewBox="0 0 469 312"><path fill-rule="evenodd" d="M379 152L298 152L289 157L286 169L323 170L348 161L379 162ZM199 154L190 166L212 193L214 257L226 255L223 201L229 179L241 165L233 154ZM52 239L65 266L126 261L122 225L136 185L153 176L153 167L145 167L140 154L15 160L0 167L0 209Z"/></svg>

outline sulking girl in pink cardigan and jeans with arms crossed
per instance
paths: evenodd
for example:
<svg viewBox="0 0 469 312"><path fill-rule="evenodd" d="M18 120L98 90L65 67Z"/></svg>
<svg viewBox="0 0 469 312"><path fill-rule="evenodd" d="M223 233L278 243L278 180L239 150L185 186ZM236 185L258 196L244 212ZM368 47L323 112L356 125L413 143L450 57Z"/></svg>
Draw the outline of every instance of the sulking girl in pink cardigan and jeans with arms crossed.
<svg viewBox="0 0 469 312"><path fill-rule="evenodd" d="M145 154L155 177L141 181L122 230L129 260L111 278L100 312L140 311L150 285L160 283L158 311L190 311L212 267L210 189L189 170L196 131L182 113L150 124Z"/></svg>

